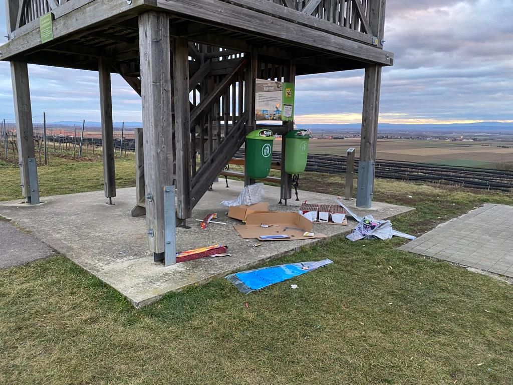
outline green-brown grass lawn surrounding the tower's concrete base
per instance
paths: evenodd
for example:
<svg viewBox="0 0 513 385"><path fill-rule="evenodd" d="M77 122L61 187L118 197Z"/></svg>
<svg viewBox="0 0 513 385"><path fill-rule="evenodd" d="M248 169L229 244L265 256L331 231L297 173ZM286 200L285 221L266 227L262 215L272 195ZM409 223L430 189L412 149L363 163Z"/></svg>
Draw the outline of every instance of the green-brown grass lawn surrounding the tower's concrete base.
<svg viewBox="0 0 513 385"><path fill-rule="evenodd" d="M116 170L120 186L133 184L133 160ZM17 178L0 161L0 200L19 198ZM44 195L102 187L95 161L55 160L40 178ZM343 194L340 177L300 184ZM375 199L415 206L393 221L413 234L485 202L513 204L386 180ZM216 279L139 311L62 256L2 270L0 383L513 383L513 287L398 251L403 242L336 238L269 262L334 261L262 292Z"/></svg>

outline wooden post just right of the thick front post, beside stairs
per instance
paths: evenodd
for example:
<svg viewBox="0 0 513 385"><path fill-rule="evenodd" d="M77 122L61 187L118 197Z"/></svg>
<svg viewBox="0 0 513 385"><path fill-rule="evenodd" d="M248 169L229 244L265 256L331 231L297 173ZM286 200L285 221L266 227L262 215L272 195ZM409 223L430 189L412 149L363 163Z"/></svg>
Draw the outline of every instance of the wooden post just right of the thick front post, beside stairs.
<svg viewBox="0 0 513 385"><path fill-rule="evenodd" d="M186 38L174 40L174 129L176 139L176 216L187 219L191 209L191 125L189 107L189 45ZM194 90L195 92L195 90ZM195 132L195 129L193 130Z"/></svg>

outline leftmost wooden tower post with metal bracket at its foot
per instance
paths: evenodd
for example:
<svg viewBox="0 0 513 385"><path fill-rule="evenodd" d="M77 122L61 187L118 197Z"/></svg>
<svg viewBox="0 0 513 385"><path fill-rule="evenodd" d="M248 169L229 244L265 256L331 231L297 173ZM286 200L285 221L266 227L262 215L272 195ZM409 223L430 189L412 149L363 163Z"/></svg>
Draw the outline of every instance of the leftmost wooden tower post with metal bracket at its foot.
<svg viewBox="0 0 513 385"><path fill-rule="evenodd" d="M18 144L18 163L23 196L31 202L29 158L35 158L34 128L32 126L32 107L30 105L29 73L27 63L11 62L12 92L14 96L14 114L16 118L16 141ZM37 181L36 175L32 179ZM36 188L37 186L33 186Z"/></svg>

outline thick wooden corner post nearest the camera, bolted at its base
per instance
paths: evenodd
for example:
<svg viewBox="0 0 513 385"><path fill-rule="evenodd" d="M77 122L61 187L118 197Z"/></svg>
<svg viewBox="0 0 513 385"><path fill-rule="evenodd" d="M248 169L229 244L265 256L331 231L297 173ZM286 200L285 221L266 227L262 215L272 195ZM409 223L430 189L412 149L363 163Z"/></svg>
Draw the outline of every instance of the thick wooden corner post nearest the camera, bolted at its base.
<svg viewBox="0 0 513 385"><path fill-rule="evenodd" d="M171 131L171 44L169 16L139 16L139 48L144 136L144 179L148 245L155 260L164 257L164 186L173 185Z"/></svg>

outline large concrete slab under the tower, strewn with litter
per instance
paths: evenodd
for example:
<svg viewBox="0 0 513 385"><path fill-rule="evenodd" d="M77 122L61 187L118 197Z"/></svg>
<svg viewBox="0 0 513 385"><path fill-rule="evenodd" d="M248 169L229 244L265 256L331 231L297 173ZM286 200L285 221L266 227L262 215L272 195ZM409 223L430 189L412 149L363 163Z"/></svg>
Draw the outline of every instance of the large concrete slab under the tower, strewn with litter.
<svg viewBox="0 0 513 385"><path fill-rule="evenodd" d="M318 241L268 241L258 248L249 247L248 244L256 240L247 242L242 239L233 228L240 222L228 218L227 207L220 204L222 200L238 197L244 187L242 182L229 183L229 188L224 182L215 183L214 190L207 192L193 210L193 218L197 219L216 212L218 221L227 225L211 224L202 230L199 222L189 220L188 225L192 228L177 228L176 243L177 251L225 244L231 257L204 258L169 267L154 263L152 254L146 249L145 218L130 217L135 188L117 190L113 206L106 204L103 191L94 191L46 197L42 199L46 203L38 206L0 202L0 215L31 230L35 237L114 287L134 306L141 307L168 292L246 269ZM265 191L270 210L294 211L300 207L301 202L294 200L288 201L288 206L279 205L279 187L265 186ZM310 203L334 203L334 197L315 192L301 191L300 198ZM354 200L345 202L349 206L356 203ZM376 219L384 219L411 210L410 207L377 203L371 211L356 209L356 212L359 215L371 213ZM315 224L313 230L334 236L348 233L355 225L354 221L349 226Z"/></svg>

